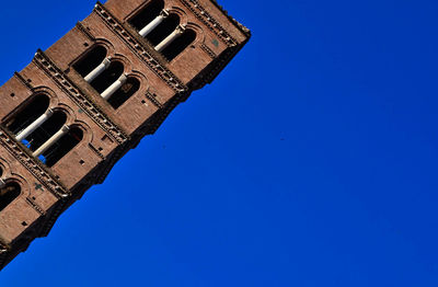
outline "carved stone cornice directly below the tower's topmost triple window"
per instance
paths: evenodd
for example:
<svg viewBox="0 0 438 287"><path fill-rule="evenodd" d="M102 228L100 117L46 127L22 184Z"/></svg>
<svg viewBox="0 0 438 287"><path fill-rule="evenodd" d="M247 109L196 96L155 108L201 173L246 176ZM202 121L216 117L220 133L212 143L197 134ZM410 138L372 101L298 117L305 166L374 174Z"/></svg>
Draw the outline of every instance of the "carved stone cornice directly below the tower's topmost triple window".
<svg viewBox="0 0 438 287"><path fill-rule="evenodd" d="M169 70L164 64L153 57L152 54L139 41L137 41L136 37L131 35L130 32L126 30L101 2L97 2L94 7L94 13L96 13L108 28L125 42L127 46L175 92L181 93L188 90L187 87L176 78L176 76Z"/></svg>

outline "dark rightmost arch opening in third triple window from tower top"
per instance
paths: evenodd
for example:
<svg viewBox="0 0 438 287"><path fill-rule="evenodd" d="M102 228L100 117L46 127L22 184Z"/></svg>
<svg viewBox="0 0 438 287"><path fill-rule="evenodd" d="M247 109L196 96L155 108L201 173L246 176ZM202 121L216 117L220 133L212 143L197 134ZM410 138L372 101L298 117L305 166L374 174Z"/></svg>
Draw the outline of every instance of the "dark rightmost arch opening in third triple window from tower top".
<svg viewBox="0 0 438 287"><path fill-rule="evenodd" d="M69 133L61 137L46 152L43 153L46 159L46 165L51 168L70 150L72 150L83 138L83 131L79 127L70 127Z"/></svg>

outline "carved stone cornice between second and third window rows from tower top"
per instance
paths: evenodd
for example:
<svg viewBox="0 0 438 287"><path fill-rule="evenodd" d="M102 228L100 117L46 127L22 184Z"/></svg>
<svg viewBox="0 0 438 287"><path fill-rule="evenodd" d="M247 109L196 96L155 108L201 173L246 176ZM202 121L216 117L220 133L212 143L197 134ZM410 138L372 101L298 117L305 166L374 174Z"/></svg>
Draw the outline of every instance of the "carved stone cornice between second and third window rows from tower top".
<svg viewBox="0 0 438 287"><path fill-rule="evenodd" d="M125 131L105 115L102 110L51 61L42 50L35 54L33 62L42 69L85 114L88 114L110 137L118 144L129 139Z"/></svg>

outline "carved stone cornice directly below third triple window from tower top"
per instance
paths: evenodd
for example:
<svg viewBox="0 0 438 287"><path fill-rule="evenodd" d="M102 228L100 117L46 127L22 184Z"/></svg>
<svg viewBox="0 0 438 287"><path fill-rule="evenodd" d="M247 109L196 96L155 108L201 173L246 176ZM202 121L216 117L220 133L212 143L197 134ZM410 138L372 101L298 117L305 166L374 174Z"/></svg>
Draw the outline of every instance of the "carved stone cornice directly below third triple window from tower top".
<svg viewBox="0 0 438 287"><path fill-rule="evenodd" d="M28 154L25 147L18 142L15 138L1 125L0 144L56 197L64 198L70 196L70 192L64 187L49 171L46 170L43 163Z"/></svg>

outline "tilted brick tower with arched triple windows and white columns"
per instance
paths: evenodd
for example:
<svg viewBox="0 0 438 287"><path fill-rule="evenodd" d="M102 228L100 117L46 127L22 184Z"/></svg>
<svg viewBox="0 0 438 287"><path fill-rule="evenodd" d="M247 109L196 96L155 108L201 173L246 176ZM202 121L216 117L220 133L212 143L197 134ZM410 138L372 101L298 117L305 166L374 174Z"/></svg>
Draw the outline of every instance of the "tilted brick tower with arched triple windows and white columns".
<svg viewBox="0 0 438 287"><path fill-rule="evenodd" d="M0 88L0 268L249 41L215 0L108 0Z"/></svg>

